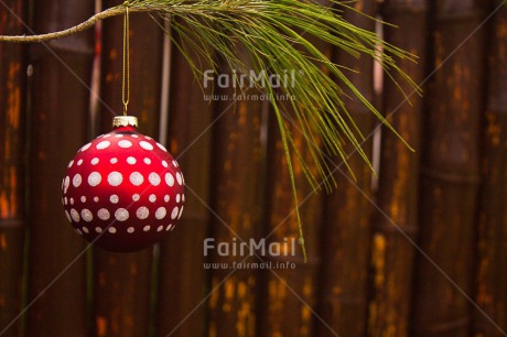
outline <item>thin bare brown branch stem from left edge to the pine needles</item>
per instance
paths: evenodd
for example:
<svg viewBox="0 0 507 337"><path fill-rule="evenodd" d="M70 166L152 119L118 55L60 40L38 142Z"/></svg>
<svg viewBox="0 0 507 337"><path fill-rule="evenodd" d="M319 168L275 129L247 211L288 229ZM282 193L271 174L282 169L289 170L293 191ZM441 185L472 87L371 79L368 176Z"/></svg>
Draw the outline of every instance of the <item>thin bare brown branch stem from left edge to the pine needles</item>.
<svg viewBox="0 0 507 337"><path fill-rule="evenodd" d="M129 7L129 12L149 12L153 11L157 9L150 8L150 7ZM0 42L20 42L20 43L25 43L25 42L43 42L43 41L48 41L48 40L54 40L54 39L60 39L60 37L65 37L82 31L85 31L87 29L93 28L97 21L107 19L110 17L116 17L120 14L125 14L126 12L126 7L119 6L119 7L114 7L110 9L107 9L103 12L99 12L88 20L72 26L69 29L60 31L60 32L53 32L53 33L46 33L46 34L37 34L37 35L14 35L14 36L9 36L9 35L0 35Z"/></svg>

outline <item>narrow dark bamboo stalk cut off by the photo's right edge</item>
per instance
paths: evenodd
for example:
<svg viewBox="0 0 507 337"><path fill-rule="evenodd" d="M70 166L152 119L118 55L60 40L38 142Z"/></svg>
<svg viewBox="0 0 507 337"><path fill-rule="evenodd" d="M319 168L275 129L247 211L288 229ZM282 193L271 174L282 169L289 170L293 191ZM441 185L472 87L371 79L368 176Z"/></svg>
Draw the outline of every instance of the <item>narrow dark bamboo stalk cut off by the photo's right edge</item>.
<svg viewBox="0 0 507 337"><path fill-rule="evenodd" d="M499 1L494 1L495 7ZM482 135L481 208L476 302L488 317L474 312L475 336L505 336L507 331L507 10L495 15L488 54L488 93ZM493 323L490 322L493 320ZM498 327L495 326L498 325Z"/></svg>

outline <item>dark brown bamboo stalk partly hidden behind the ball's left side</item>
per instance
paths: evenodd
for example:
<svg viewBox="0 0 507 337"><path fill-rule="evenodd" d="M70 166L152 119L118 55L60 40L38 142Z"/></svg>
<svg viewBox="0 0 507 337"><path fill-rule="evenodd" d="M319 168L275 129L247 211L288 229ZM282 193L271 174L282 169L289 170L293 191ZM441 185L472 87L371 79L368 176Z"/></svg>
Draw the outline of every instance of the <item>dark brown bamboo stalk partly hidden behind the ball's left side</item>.
<svg viewBox="0 0 507 337"><path fill-rule="evenodd" d="M90 2L39 1L33 29L47 32L69 26L93 10ZM65 219L60 186L68 161L86 140L89 94L85 85L89 85L91 58L90 34L34 45L30 53L28 301L34 302L28 312L29 336L87 334L85 259L75 260L85 244Z"/></svg>

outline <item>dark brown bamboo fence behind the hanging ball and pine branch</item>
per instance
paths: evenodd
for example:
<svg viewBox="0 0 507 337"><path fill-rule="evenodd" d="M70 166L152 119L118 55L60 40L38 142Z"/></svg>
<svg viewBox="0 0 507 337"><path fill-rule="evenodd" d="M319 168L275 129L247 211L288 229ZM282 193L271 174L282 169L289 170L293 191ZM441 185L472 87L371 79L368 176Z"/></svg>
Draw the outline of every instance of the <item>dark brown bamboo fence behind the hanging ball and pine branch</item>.
<svg viewBox="0 0 507 337"><path fill-rule="evenodd" d="M44 44L0 43L0 336L507 336L503 2L354 3L399 25L379 33L420 56L401 62L424 90L412 106L378 85L370 61L319 45L360 72L353 83L417 152L347 101L378 177L348 149L356 181L330 159L338 187L314 194L295 165L309 260L300 250L270 258L295 263L285 270L204 268L240 262L205 257L205 238L299 237L268 104L208 104L160 28L132 15L130 110L179 159L187 205L153 249L86 249L66 224L60 184L75 151L121 111L122 20ZM95 10L94 1L2 0L0 34L55 31Z"/></svg>

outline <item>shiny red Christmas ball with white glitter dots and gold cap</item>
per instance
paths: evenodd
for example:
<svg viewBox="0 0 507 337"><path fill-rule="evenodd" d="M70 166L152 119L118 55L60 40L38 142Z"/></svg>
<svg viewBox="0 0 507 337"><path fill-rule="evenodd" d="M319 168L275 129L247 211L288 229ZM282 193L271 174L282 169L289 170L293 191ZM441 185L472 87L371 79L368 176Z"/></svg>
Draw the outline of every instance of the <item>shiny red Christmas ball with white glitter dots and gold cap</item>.
<svg viewBox="0 0 507 337"><path fill-rule="evenodd" d="M114 126L68 163L62 203L86 240L110 251L136 251L174 229L185 181L168 150L136 130L136 118L116 117Z"/></svg>

